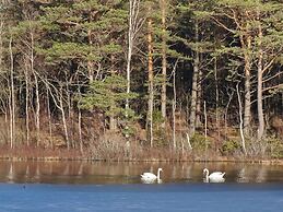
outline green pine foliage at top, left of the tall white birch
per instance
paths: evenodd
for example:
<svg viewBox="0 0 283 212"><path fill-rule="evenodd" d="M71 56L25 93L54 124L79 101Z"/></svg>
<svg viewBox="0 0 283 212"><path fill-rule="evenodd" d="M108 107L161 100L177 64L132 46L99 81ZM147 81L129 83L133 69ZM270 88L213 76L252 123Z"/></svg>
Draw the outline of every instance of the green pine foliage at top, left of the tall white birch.
<svg viewBox="0 0 283 212"><path fill-rule="evenodd" d="M101 62L109 54L120 54L127 11L117 8L119 3L89 0L43 8L40 22L48 31L49 45L43 46L40 54L50 63L75 60L82 66L87 61Z"/></svg>

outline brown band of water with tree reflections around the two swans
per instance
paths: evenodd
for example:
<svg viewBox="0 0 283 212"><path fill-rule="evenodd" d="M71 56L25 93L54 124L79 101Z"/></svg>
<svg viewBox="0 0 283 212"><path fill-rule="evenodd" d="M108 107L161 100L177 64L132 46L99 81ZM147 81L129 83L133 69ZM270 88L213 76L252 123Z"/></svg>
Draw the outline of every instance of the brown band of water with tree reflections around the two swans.
<svg viewBox="0 0 283 212"><path fill-rule="evenodd" d="M0 161L0 182L20 184L141 184L140 175L156 175L164 184L202 182L202 170L225 172L225 182L283 182L282 165L245 163L116 163Z"/></svg>

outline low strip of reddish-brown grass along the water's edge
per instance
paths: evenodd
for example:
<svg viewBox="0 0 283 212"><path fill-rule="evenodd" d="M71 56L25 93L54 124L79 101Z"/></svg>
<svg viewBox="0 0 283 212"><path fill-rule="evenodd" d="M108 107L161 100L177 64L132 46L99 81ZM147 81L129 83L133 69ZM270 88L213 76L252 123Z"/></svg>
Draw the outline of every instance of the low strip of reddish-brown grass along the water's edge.
<svg viewBox="0 0 283 212"><path fill-rule="evenodd" d="M35 146L0 148L0 161L11 162L123 162L123 163L249 163L266 165L283 165L283 158L268 156L248 157L223 156L213 152L203 155L201 152L172 152L168 150L152 149L142 154L104 154L93 155L87 150L83 152L72 149L42 149Z"/></svg>

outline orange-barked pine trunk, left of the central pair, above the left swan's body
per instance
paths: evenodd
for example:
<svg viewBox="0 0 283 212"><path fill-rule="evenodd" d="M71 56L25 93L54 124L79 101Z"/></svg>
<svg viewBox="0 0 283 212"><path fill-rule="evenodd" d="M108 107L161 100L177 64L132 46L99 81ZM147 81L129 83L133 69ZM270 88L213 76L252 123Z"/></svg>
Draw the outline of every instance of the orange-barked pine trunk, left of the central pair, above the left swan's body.
<svg viewBox="0 0 283 212"><path fill-rule="evenodd" d="M149 9L151 15L151 8ZM148 102L148 121L149 121L149 140L153 146L153 45L152 45L152 19L148 20L148 69L149 69L149 102Z"/></svg>

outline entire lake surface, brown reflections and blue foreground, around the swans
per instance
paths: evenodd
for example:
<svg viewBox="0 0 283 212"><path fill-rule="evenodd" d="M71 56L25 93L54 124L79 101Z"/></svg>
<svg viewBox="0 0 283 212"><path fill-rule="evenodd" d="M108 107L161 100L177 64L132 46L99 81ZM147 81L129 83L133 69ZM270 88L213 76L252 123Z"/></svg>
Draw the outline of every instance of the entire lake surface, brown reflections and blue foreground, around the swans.
<svg viewBox="0 0 283 212"><path fill-rule="evenodd" d="M226 173L204 184L202 169ZM143 172L162 167L162 184ZM283 166L241 163L0 162L0 212L279 212Z"/></svg>

